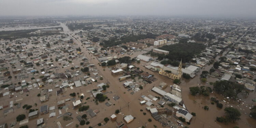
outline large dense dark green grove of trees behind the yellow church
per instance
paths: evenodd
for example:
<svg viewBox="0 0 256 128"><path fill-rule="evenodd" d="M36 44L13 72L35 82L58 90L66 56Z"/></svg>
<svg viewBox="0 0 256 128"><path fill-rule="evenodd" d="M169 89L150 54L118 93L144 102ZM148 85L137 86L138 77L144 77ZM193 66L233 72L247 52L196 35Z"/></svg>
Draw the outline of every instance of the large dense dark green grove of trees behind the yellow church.
<svg viewBox="0 0 256 128"><path fill-rule="evenodd" d="M160 49L169 51L166 57L170 60L181 60L183 62L189 62L195 55L200 54L204 50L205 45L200 43L186 43L180 42L173 45L165 45Z"/></svg>

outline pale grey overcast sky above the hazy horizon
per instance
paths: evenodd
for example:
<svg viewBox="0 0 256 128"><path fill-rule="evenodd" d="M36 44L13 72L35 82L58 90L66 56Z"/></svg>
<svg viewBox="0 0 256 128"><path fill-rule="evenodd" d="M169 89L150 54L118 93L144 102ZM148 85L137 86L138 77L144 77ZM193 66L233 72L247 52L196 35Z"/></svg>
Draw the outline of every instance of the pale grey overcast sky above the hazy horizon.
<svg viewBox="0 0 256 128"><path fill-rule="evenodd" d="M58 15L256 17L256 0L0 0L0 16Z"/></svg>

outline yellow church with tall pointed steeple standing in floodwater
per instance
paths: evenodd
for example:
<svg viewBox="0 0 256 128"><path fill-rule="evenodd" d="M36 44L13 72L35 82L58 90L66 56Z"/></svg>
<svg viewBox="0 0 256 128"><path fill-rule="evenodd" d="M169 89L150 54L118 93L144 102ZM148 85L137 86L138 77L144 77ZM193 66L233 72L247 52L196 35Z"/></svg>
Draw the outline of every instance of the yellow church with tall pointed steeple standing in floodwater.
<svg viewBox="0 0 256 128"><path fill-rule="evenodd" d="M181 79L182 76L182 60L178 69L163 66L159 70L159 74L168 77L169 79Z"/></svg>

